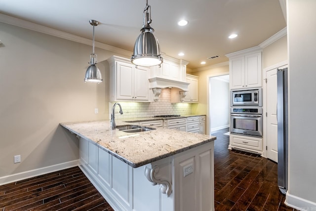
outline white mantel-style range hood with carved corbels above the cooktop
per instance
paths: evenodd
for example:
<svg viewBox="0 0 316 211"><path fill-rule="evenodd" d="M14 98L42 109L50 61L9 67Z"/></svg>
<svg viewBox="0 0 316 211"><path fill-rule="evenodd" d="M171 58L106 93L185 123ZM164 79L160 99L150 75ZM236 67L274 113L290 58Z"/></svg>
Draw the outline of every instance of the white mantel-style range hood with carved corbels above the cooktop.
<svg viewBox="0 0 316 211"><path fill-rule="evenodd" d="M181 90L179 91L181 98L184 99L184 97L186 96L186 92L189 91L189 84L190 83L188 82L175 81L160 77L154 77L149 79L149 87L154 92L154 101L156 102L158 101L158 97L161 93L162 88L178 88Z"/></svg>

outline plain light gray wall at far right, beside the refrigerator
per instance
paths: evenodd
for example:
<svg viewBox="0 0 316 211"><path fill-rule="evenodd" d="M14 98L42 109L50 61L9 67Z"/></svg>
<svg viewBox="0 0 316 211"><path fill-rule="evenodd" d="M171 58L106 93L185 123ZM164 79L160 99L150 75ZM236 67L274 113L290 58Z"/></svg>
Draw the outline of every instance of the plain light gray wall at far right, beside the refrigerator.
<svg viewBox="0 0 316 211"><path fill-rule="evenodd" d="M316 1L288 0L289 188L316 209ZM307 209L307 208L305 208Z"/></svg>

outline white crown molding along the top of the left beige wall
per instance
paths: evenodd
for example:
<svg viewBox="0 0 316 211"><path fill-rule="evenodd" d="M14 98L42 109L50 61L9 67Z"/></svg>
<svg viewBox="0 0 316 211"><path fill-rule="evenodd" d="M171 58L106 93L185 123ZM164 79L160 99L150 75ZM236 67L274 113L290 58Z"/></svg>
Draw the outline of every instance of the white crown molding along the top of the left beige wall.
<svg viewBox="0 0 316 211"><path fill-rule="evenodd" d="M1 13L0 13L0 22L11 24L11 25L18 26L18 27L22 27L22 28L29 29L29 30L33 30L36 32L44 33L47 35L55 36L55 37L62 38L62 39L66 39L66 40L70 40L70 41L74 41L74 42L79 42L79 43L83 43L83 44L87 44L87 45L92 45L92 40L90 40L90 39L82 38L82 37L79 37L77 35L62 32L62 31L52 29L52 28L49 28L46 26L42 26L40 24L32 23L32 22L25 21L25 20L22 20L19 18L14 18L14 17L4 15ZM112 52L120 53L123 55L130 56L132 54L131 51L128 51L128 50L125 50L122 48L118 48L118 47L115 47L115 46L112 46L109 44L105 44L102 42L95 42L95 46L102 48L102 49L105 49L105 50L110 50Z"/></svg>

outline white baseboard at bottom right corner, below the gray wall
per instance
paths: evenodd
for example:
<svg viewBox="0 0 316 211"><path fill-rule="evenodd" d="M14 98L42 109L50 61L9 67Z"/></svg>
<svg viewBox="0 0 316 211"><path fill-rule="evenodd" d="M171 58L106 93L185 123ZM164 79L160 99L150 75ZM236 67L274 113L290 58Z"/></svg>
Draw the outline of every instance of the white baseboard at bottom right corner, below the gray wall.
<svg viewBox="0 0 316 211"><path fill-rule="evenodd" d="M316 203L286 192L285 205L300 211L316 211Z"/></svg>

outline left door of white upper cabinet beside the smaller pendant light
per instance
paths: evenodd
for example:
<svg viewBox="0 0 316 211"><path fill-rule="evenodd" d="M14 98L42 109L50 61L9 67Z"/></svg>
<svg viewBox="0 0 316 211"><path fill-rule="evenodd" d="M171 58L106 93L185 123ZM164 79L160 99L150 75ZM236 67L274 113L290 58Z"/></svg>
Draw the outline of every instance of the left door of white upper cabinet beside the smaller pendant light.
<svg viewBox="0 0 316 211"><path fill-rule="evenodd" d="M133 99L133 69L134 65L123 62L117 62L117 99L131 100Z"/></svg>

